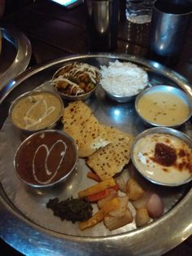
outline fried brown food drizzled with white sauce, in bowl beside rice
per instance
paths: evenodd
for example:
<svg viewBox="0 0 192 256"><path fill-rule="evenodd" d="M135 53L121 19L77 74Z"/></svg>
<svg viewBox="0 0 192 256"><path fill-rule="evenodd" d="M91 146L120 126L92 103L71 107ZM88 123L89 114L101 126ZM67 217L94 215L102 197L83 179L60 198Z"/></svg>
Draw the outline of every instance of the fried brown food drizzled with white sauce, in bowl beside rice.
<svg viewBox="0 0 192 256"><path fill-rule="evenodd" d="M98 68L73 62L55 73L53 84L64 95L82 95L93 90L100 80Z"/></svg>

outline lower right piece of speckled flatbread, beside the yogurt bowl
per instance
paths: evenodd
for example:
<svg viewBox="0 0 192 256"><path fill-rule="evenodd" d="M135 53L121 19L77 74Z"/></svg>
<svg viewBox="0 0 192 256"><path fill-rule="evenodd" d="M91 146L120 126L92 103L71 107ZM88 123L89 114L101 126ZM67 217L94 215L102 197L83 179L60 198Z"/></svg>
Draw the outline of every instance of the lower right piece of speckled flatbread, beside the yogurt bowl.
<svg viewBox="0 0 192 256"><path fill-rule="evenodd" d="M86 160L86 164L102 180L120 173L130 160L130 148L133 136L125 134L114 127L107 128L109 138L113 139L106 147L98 149Z"/></svg>

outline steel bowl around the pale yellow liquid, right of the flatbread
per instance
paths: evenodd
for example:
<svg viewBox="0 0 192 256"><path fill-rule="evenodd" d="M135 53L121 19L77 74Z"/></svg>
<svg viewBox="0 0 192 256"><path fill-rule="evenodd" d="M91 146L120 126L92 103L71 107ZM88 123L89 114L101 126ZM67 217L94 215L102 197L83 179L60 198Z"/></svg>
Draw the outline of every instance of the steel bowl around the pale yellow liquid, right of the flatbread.
<svg viewBox="0 0 192 256"><path fill-rule="evenodd" d="M183 103L189 108L189 113L187 116L183 117L181 119L181 121L174 123L174 124L167 124L167 123L162 123L160 124L158 121L155 120L150 120L150 118L148 119L144 114L142 113L142 108L138 107L139 101L142 99L143 96L152 96L154 93L168 93L170 95L176 96L178 97L178 99L181 99L183 101ZM151 103L150 103L150 107L147 108L147 111L151 111L151 109L155 108L155 105L153 103L153 97L151 97ZM178 127L181 126L183 123L185 123L185 121L189 120L191 115L192 115L192 100L190 98L189 95L187 95L183 90L178 89L177 87L173 87L173 86L165 86L165 85L159 85L159 86L152 86L150 88L147 88L146 90L142 90L141 93L139 93L137 95L137 98L135 100L135 109L137 111L137 114L139 117L142 118L142 121L144 121L144 123L146 124L146 126L157 126L157 127ZM169 120L171 120L172 118L172 114L169 113L170 118ZM178 113L178 115L181 115L181 113ZM169 117L169 116L168 116Z"/></svg>

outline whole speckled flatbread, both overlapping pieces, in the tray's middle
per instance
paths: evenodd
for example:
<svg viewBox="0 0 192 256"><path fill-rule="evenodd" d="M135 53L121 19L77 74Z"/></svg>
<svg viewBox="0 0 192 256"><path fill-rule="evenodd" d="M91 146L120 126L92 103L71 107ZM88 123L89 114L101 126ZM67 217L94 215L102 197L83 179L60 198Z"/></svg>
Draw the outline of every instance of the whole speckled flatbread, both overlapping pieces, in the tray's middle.
<svg viewBox="0 0 192 256"><path fill-rule="evenodd" d="M63 130L76 140L79 157L88 157L86 164L102 180L119 173L130 160L133 136L101 125L82 101L64 108Z"/></svg>

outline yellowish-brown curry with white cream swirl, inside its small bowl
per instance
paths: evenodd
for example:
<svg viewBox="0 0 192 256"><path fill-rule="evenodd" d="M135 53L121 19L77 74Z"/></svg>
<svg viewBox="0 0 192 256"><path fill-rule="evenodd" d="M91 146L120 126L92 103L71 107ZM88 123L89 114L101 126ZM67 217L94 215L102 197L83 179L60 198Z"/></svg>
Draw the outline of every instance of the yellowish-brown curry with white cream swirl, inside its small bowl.
<svg viewBox="0 0 192 256"><path fill-rule="evenodd" d="M62 109L58 96L49 91L36 91L15 102L11 120L20 129L41 130L57 121Z"/></svg>

